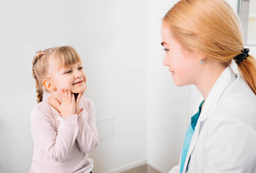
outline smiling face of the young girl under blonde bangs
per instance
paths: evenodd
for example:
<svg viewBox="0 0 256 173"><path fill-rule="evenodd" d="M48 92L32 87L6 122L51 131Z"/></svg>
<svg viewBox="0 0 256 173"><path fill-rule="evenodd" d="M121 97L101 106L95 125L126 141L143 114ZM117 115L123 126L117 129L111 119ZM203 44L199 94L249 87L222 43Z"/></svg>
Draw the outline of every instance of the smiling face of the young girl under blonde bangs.
<svg viewBox="0 0 256 173"><path fill-rule="evenodd" d="M82 63L59 68L55 64L52 71L53 85L56 92L61 93L62 89L69 89L72 93L82 93L86 89L86 75Z"/></svg>

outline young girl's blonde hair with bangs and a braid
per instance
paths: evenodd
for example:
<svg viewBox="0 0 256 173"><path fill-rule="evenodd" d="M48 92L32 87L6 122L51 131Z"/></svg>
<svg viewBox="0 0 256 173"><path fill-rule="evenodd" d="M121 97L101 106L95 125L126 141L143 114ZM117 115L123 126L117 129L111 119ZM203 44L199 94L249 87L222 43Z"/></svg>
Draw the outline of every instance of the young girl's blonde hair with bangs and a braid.
<svg viewBox="0 0 256 173"><path fill-rule="evenodd" d="M48 70L49 58L59 63L59 67L80 63L81 58L77 51L71 46L61 46L39 50L32 61L33 77L35 78L35 87L37 92L38 103L43 101L43 79L49 79L51 72Z"/></svg>

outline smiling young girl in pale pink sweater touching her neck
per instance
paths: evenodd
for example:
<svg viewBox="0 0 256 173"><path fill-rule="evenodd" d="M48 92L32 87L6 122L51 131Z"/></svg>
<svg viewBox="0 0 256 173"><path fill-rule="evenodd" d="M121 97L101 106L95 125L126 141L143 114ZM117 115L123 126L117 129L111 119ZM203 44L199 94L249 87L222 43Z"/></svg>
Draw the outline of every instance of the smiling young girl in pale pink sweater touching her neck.
<svg viewBox="0 0 256 173"><path fill-rule="evenodd" d="M30 113L34 141L30 172L91 172L88 153L98 145L95 107L82 97L86 76L77 51L71 46L38 51L33 77L38 105ZM43 99L43 91L50 97Z"/></svg>

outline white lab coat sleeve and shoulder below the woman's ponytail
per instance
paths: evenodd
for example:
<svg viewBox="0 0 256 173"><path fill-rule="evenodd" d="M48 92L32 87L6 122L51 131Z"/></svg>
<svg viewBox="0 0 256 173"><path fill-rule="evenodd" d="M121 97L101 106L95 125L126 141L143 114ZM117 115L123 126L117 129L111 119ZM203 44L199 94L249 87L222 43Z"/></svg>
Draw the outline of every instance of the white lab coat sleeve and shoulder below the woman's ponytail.
<svg viewBox="0 0 256 173"><path fill-rule="evenodd" d="M204 128L203 172L256 171L256 97L242 78L226 88Z"/></svg>

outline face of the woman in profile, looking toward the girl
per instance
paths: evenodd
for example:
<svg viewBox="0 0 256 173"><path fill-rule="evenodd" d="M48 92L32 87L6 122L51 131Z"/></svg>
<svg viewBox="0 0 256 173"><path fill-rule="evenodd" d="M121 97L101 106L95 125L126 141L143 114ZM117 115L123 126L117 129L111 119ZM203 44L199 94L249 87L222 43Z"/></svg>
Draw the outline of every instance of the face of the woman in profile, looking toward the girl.
<svg viewBox="0 0 256 173"><path fill-rule="evenodd" d="M171 37L170 29L162 25L162 45L166 51L163 65L168 66L176 86L196 84L200 76L201 57L199 53L184 50L176 40Z"/></svg>

